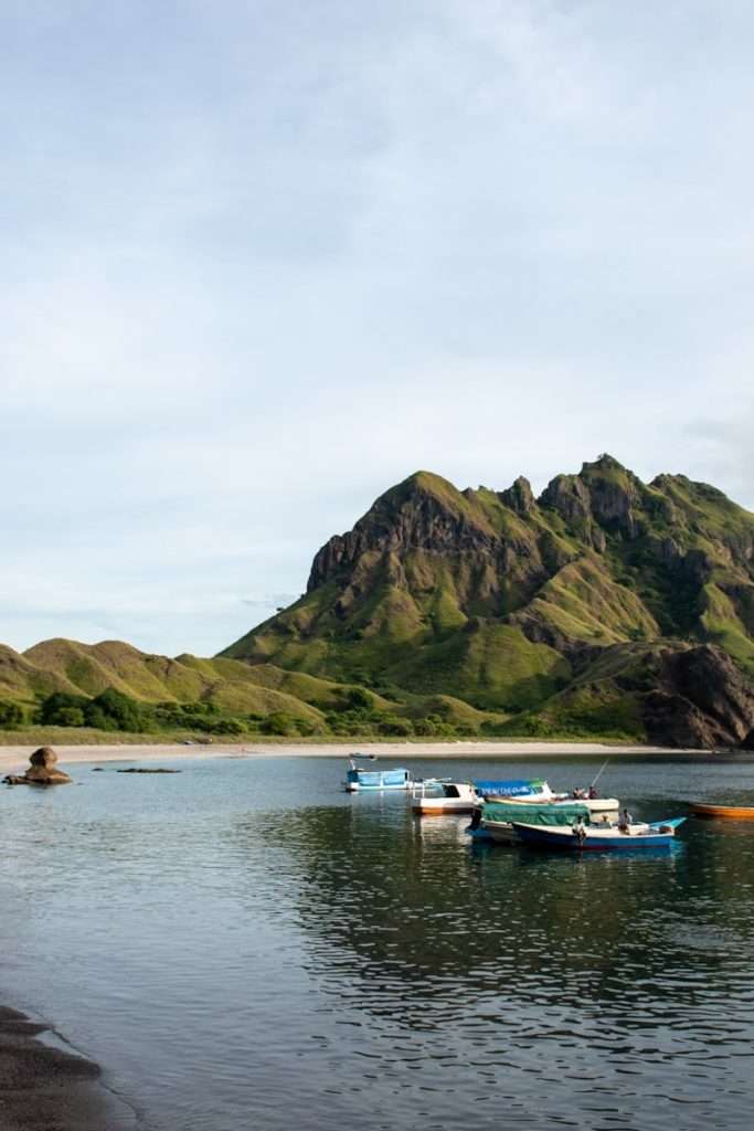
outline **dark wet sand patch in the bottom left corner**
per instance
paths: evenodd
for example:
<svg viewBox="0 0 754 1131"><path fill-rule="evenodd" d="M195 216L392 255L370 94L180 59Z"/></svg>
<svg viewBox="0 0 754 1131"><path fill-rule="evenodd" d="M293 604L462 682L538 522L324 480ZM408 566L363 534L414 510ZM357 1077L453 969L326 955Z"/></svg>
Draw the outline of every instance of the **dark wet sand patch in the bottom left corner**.
<svg viewBox="0 0 754 1131"><path fill-rule="evenodd" d="M136 1131L133 1112L99 1082L99 1068L36 1039L46 1026L0 1005L2 1131Z"/></svg>

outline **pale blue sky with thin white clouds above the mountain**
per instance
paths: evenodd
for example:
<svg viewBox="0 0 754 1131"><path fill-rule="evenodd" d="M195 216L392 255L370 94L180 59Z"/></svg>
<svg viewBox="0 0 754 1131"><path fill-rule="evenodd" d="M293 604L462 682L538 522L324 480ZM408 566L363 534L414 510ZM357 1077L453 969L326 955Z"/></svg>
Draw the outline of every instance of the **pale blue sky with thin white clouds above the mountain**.
<svg viewBox="0 0 754 1131"><path fill-rule="evenodd" d="M213 655L418 468L754 509L748 0L0 0L0 640Z"/></svg>

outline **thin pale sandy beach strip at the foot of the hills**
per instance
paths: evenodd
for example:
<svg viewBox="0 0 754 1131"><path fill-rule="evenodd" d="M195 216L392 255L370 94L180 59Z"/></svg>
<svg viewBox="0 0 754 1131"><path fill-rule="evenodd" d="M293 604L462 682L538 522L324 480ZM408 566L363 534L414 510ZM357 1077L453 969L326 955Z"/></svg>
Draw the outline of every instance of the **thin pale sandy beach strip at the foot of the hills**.
<svg viewBox="0 0 754 1131"><path fill-rule="evenodd" d="M16 772L28 766L29 756L35 745L0 746L0 770ZM130 744L113 743L103 745L63 745L53 748L59 759L59 767L78 762L135 762L180 759L181 761L198 761L205 758L348 758L379 757L413 759L463 759L463 758L567 758L579 756L603 756L604 758L621 757L665 757L712 756L710 750L686 750L670 746L643 746L639 744L608 744L604 742L543 742L528 741L489 741L459 740L457 742L362 742L357 740L348 745L343 742L322 743L218 743L217 745L198 744L187 746L182 743L164 744Z"/></svg>

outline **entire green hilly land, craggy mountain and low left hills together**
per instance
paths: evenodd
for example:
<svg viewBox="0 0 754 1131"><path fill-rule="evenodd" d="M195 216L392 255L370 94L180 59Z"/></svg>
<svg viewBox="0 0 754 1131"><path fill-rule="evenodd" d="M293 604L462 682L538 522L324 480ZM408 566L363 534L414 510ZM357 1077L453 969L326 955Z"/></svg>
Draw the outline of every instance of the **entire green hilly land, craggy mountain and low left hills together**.
<svg viewBox="0 0 754 1131"><path fill-rule="evenodd" d="M69 727L754 744L754 516L610 456L538 499L522 477L459 491L417 472L214 659L0 646L0 725L19 708Z"/></svg>

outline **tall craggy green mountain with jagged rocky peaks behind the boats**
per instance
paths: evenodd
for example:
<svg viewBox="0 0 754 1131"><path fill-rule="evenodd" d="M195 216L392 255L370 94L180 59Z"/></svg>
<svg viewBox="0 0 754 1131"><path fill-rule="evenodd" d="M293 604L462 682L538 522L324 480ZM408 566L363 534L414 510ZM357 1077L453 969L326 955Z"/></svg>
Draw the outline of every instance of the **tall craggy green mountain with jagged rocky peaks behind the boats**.
<svg viewBox="0 0 754 1131"><path fill-rule="evenodd" d="M736 744L754 727L754 515L608 455L539 498L523 477L459 491L417 472L222 656L453 697L497 733Z"/></svg>

